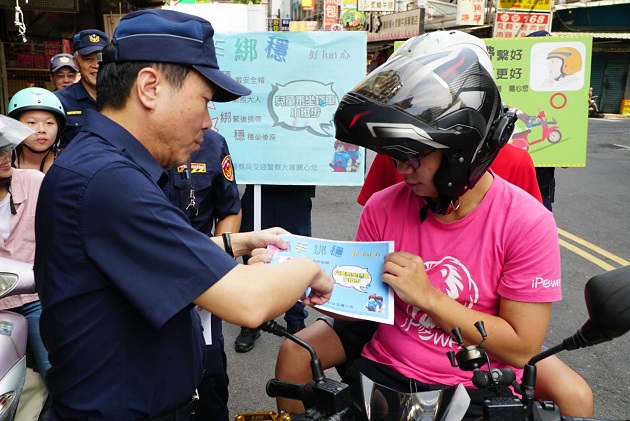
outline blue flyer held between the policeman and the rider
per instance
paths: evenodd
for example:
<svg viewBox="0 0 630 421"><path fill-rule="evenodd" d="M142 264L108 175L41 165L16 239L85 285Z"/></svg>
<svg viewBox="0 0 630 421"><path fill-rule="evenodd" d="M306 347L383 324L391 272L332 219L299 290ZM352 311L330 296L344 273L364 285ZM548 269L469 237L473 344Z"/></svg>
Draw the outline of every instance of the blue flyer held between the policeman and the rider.
<svg viewBox="0 0 630 421"><path fill-rule="evenodd" d="M330 300L316 308L343 316L394 323L394 293L381 280L385 255L394 251L393 241L357 242L283 235L289 248L269 246L270 263L296 257L317 262L335 282Z"/></svg>

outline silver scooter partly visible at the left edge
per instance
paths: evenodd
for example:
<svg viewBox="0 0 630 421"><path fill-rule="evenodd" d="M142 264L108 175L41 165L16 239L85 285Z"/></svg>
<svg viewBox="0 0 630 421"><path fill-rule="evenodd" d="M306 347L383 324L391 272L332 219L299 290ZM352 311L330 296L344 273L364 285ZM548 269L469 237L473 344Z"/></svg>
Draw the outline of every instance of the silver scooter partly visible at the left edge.
<svg viewBox="0 0 630 421"><path fill-rule="evenodd" d="M0 257L0 298L35 291L33 265ZM0 421L13 420L26 380L24 316L0 311Z"/></svg>

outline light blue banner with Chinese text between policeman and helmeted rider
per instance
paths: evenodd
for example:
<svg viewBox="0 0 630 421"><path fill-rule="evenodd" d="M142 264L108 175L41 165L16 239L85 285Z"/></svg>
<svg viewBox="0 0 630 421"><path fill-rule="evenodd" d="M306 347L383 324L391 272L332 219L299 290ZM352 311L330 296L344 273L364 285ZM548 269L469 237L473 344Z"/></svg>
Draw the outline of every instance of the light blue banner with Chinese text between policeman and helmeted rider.
<svg viewBox="0 0 630 421"><path fill-rule="evenodd" d="M365 151L336 141L339 101L366 72L365 32L215 34L221 70L252 90L209 104L239 184L363 184Z"/></svg>

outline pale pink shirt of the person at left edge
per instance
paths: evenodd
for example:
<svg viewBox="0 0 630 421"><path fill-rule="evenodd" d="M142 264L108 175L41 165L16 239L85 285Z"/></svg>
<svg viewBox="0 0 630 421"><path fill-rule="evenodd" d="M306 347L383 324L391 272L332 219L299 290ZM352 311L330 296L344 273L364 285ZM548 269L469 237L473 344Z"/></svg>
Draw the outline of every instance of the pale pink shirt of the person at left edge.
<svg viewBox="0 0 630 421"><path fill-rule="evenodd" d="M11 194L16 214L11 215L11 235L0 235L0 256L19 262L35 260L35 208L44 174L37 170L11 170ZM14 295L0 300L0 309L21 307L39 300L37 294Z"/></svg>

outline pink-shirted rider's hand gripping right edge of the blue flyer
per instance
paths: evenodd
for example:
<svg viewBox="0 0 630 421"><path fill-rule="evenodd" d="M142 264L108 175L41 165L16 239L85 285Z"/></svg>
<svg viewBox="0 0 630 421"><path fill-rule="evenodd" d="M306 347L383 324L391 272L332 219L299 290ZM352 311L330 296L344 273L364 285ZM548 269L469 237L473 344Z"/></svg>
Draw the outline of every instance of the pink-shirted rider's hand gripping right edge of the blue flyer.
<svg viewBox="0 0 630 421"><path fill-rule="evenodd" d="M415 254L399 251L385 256L383 281L389 284L405 303L419 309L424 303L441 293L424 270L424 261Z"/></svg>

